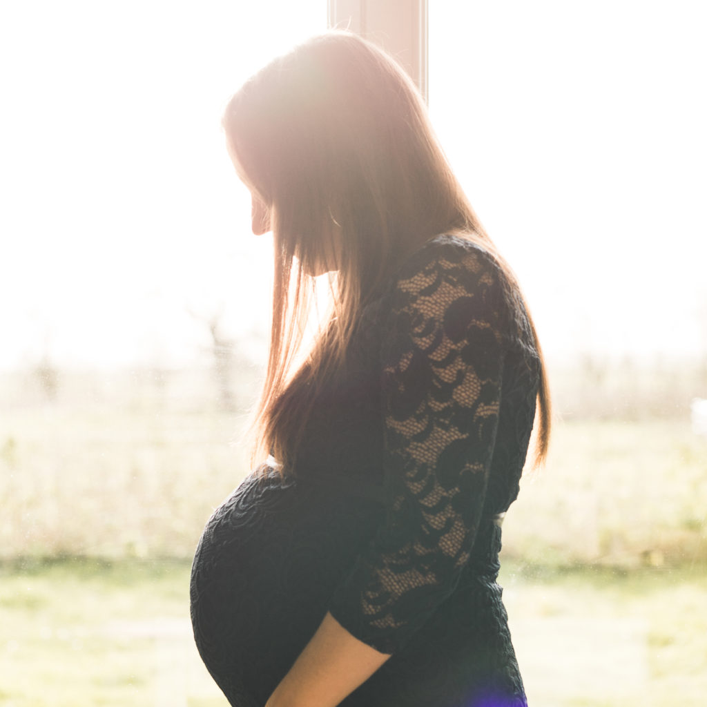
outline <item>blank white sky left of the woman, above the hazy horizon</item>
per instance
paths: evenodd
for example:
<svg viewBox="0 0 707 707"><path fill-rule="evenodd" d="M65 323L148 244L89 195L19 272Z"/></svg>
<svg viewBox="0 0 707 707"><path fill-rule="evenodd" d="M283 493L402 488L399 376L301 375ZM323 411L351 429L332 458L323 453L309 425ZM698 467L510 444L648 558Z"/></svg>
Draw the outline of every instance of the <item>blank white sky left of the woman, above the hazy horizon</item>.
<svg viewBox="0 0 707 707"><path fill-rule="evenodd" d="M243 300L240 259L267 250L242 247L223 106L326 22L325 0L2 4L0 367L193 358L187 308Z"/></svg>

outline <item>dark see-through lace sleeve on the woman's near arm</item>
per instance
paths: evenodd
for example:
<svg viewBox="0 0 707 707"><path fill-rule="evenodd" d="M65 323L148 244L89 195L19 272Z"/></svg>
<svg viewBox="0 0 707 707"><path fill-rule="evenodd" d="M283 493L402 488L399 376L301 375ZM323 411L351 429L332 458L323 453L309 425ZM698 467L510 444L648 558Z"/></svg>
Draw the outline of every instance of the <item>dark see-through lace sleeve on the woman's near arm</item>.
<svg viewBox="0 0 707 707"><path fill-rule="evenodd" d="M387 520L329 607L382 653L399 650L455 588L500 404L498 271L476 249L424 252L397 282L382 346Z"/></svg>

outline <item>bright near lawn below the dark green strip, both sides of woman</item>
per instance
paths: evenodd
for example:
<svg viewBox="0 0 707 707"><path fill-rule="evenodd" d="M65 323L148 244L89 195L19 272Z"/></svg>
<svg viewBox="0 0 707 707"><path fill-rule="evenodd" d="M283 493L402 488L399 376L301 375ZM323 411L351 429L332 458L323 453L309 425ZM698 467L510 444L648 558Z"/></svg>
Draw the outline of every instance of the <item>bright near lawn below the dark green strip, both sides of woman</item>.
<svg viewBox="0 0 707 707"><path fill-rule="evenodd" d="M531 705L701 707L707 568L557 568L501 583ZM191 636L185 561L0 566L4 707L225 707Z"/></svg>

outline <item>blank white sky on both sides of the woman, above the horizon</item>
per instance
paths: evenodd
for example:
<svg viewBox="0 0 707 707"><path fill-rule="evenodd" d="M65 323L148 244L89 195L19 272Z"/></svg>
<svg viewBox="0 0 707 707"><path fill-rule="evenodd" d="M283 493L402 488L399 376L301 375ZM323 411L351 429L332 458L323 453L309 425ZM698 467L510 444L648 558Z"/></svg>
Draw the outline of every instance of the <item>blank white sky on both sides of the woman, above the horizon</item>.
<svg viewBox="0 0 707 707"><path fill-rule="evenodd" d="M706 351L703 3L430 5L433 122L547 353ZM0 6L0 367L187 363L221 311L264 332L221 110L325 25L326 0Z"/></svg>

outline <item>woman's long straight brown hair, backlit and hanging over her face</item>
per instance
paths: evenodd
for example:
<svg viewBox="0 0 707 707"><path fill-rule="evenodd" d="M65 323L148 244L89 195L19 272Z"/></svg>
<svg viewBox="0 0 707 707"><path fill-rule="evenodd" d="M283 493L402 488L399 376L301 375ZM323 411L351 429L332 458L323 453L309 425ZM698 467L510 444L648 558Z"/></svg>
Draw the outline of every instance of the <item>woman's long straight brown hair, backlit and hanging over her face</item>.
<svg viewBox="0 0 707 707"><path fill-rule="evenodd" d="M358 312L405 255L440 233L458 233L491 252L520 290L452 174L414 84L358 35L332 31L274 59L231 98L223 127L274 234L257 429L262 449L287 467L318 385L344 361ZM332 257L333 307L297 368L313 276ZM537 462L550 430L542 354L541 364Z"/></svg>

